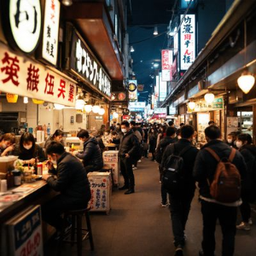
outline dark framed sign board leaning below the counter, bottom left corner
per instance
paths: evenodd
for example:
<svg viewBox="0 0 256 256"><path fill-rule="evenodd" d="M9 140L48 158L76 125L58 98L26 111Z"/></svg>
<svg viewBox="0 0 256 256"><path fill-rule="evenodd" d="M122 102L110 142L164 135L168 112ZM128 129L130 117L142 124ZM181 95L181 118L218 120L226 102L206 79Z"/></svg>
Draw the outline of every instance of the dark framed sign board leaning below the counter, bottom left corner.
<svg viewBox="0 0 256 256"><path fill-rule="evenodd" d="M29 207L7 223L9 255L44 255L40 206Z"/></svg>

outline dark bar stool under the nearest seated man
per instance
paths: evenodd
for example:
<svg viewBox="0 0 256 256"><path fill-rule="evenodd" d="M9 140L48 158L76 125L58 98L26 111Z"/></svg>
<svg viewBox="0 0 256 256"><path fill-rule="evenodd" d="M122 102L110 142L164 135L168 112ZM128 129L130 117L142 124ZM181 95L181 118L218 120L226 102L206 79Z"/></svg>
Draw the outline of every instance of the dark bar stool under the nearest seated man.
<svg viewBox="0 0 256 256"><path fill-rule="evenodd" d="M91 232L91 225L90 225L90 206L88 206L85 209L80 210L72 210L64 212L64 218L67 219L67 216L71 216L72 218L72 228L67 232L67 234L62 234L61 238L64 242L69 242L72 244L77 244L78 249L78 256L82 255L82 247L83 247L83 241L85 239L90 240L90 250L94 250L94 243L93 243L93 237ZM82 225L82 217L85 215L85 221L86 221L86 228L83 228ZM84 232L85 231L85 232ZM63 231L64 232L64 231ZM75 234L77 235L75 239ZM68 239L70 237L70 239Z"/></svg>

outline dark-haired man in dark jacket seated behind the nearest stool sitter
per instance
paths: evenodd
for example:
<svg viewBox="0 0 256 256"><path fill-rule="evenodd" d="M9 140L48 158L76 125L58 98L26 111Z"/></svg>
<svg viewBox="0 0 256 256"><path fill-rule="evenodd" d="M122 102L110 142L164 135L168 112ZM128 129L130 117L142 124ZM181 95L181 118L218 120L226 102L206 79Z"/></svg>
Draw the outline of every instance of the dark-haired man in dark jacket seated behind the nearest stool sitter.
<svg viewBox="0 0 256 256"><path fill-rule="evenodd" d="M88 131L82 129L78 133L79 140L84 143L83 153L76 157L83 160L86 172L100 171L103 167L102 150L95 137L90 137Z"/></svg>

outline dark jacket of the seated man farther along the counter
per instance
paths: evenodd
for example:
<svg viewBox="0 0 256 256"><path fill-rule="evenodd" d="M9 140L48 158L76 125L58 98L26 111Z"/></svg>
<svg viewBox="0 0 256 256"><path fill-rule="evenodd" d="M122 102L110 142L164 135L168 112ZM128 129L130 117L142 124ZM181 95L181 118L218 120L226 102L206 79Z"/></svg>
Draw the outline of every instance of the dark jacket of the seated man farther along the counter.
<svg viewBox="0 0 256 256"><path fill-rule="evenodd" d="M84 143L84 152L76 154L76 157L83 160L84 166L93 166L93 171L99 171L103 167L102 150L95 137L90 137Z"/></svg>

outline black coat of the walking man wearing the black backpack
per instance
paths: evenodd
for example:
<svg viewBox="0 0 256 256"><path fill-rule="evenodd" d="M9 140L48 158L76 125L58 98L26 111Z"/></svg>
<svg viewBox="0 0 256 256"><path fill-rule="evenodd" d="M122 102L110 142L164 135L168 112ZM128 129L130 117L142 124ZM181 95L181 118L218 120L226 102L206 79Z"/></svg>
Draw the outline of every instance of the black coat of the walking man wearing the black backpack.
<svg viewBox="0 0 256 256"><path fill-rule="evenodd" d="M193 168L195 165L195 157L198 154L198 149L192 146L192 144L187 139L179 139L177 143L174 143L174 152L173 144L166 147L166 150L163 154L160 168L163 169L166 163L168 156L171 154L179 154L183 148L191 145L183 155L183 195L194 195L195 193L195 178L193 177Z"/></svg>

